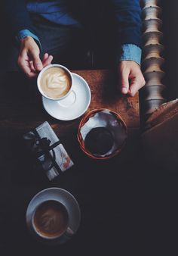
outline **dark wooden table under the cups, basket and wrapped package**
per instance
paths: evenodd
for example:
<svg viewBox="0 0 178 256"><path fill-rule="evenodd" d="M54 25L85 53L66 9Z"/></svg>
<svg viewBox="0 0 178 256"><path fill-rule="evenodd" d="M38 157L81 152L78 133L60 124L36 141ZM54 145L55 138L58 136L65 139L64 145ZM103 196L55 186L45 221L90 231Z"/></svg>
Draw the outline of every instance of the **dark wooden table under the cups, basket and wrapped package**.
<svg viewBox="0 0 178 256"><path fill-rule="evenodd" d="M140 117L138 95L127 98L115 90L111 70L74 70L91 87L91 105L121 114L129 137L121 154L108 161L87 158L76 134L81 118L55 120L41 105L35 81L29 84L19 74L5 76L0 94L0 245L18 255L131 255L140 244L139 166ZM24 133L47 120L59 136L75 165L49 182L35 173L23 154ZM71 192L81 207L81 225L65 245L49 247L36 242L26 229L26 207L42 189L61 187ZM124 254L123 254L124 253ZM132 253L133 254L133 253ZM4 254L2 254L4 255Z"/></svg>

